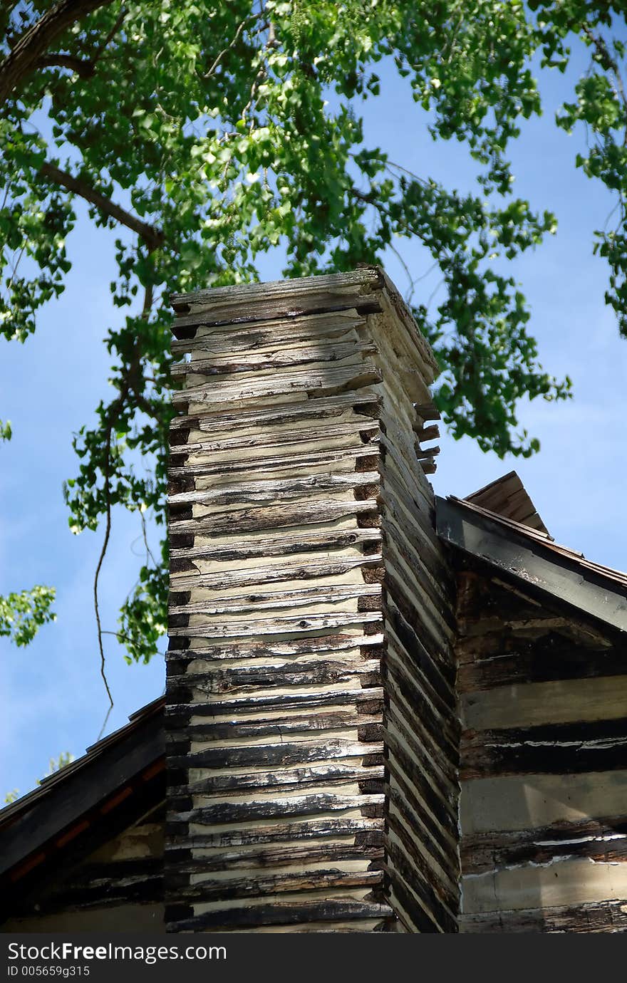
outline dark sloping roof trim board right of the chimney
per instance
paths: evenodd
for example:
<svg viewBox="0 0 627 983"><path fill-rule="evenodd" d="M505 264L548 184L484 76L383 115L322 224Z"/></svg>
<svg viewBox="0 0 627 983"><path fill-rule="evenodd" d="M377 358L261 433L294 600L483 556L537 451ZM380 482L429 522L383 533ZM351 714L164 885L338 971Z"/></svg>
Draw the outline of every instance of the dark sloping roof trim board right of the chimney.
<svg viewBox="0 0 627 983"><path fill-rule="evenodd" d="M527 585L576 607L596 620L627 631L627 590L602 567L575 553L542 543L485 509L459 499L435 498L438 536L464 553Z"/></svg>

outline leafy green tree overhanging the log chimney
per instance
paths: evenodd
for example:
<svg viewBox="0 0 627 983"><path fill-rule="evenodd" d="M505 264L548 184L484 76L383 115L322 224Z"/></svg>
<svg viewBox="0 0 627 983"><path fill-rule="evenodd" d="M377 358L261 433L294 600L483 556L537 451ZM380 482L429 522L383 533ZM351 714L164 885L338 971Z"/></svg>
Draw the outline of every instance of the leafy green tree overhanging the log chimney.
<svg viewBox="0 0 627 983"><path fill-rule="evenodd" d="M542 370L525 298L498 260L539 245L555 219L513 197L506 152L541 112L532 60L564 71L572 44L591 64L557 123L588 128L576 164L616 194L616 227L594 248L627 334L620 2L31 0L5 4L0 22L5 337L26 341L63 290L77 198L118 230L121 314L105 334L116 393L75 434L80 466L65 489L73 532L104 527L103 666L97 584L112 512L138 512L144 531L148 518L164 525L173 290L255 279L258 256L276 248L285 275L300 276L374 262L418 237L444 286L434 309L414 308L442 367L444 421L501 456L538 450L518 433L517 403L565 399L570 380ZM468 146L475 194L364 145L359 102L376 98L381 59L428 110L430 136ZM138 453L152 461L148 478ZM166 561L164 539L121 607L129 660L147 661L165 630Z"/></svg>

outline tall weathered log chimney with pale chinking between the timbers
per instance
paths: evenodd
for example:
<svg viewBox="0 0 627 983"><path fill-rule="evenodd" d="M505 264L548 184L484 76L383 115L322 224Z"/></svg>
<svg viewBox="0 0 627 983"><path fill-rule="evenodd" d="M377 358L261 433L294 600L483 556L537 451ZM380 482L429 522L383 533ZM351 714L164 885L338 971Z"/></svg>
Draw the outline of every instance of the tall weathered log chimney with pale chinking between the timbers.
<svg viewBox="0 0 627 983"><path fill-rule="evenodd" d="M455 932L428 344L378 267L173 306L168 931Z"/></svg>

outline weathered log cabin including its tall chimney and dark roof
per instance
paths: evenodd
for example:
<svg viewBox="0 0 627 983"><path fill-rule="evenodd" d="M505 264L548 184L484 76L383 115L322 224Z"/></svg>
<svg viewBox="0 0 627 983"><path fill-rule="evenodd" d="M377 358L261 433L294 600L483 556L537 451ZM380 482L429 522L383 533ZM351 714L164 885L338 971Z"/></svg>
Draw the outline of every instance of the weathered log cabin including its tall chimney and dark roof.
<svg viewBox="0 0 627 983"><path fill-rule="evenodd" d="M173 308L165 696L0 812L2 931L627 930L627 576L433 493L380 268Z"/></svg>

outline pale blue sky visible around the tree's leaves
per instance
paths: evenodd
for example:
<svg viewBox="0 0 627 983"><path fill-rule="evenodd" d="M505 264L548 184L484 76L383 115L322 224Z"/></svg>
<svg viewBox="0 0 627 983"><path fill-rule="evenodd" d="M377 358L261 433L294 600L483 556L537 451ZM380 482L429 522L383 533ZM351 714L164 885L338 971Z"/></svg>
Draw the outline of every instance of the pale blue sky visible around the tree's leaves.
<svg viewBox="0 0 627 983"><path fill-rule="evenodd" d="M448 187L472 187L466 150L433 144L408 87L391 72L382 76L380 98L358 107L367 144L380 145L396 162ZM624 569L627 342L618 337L603 302L606 266L592 256L593 231L602 227L613 202L575 170L582 135L568 137L553 123L574 78L572 72L544 74L544 115L524 126L510 154L516 194L557 214L557 234L518 260L514 271L532 306L530 329L542 364L557 376L572 377L574 399L521 407L522 425L542 441L541 452L527 461L501 461L469 439L444 435L433 486L440 494L465 494L515 468L558 542ZM65 293L43 312L25 345L0 342L0 418L10 419L14 431L0 448L0 593L52 584L58 614L28 649L0 639L0 802L10 789L32 787L49 757L66 750L82 754L97 738L107 706L92 602L102 532L70 533L61 486L77 470L72 431L91 421L107 394L102 337L120 313L112 308L108 287L115 273L114 236L95 229L80 204L78 210ZM427 268L420 249L406 243L403 249L414 274ZM398 260L390 254L385 265L404 291ZM261 272L264 279L279 277L280 255L264 259ZM436 282L426 279L416 300L428 297ZM101 576L105 628L115 628L117 609L136 576L140 532L137 517L116 516ZM106 653L115 698L111 730L163 691L164 668L161 659L126 665L111 638Z"/></svg>

